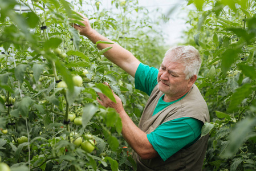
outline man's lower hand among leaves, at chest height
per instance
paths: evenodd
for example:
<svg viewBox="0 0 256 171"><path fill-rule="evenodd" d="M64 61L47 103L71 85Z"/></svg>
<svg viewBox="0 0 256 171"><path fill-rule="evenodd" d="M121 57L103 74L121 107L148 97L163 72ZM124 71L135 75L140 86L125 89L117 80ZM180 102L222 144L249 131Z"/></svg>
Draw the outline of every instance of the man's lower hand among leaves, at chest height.
<svg viewBox="0 0 256 171"><path fill-rule="evenodd" d="M105 85L108 86L108 83L104 83ZM109 87L110 88L110 87ZM124 107L123 107L123 103L121 101L121 99L119 98L119 96L117 96L113 90L112 90L112 93L113 93L113 96L115 97L116 99L116 103L113 102L112 100L110 100L107 96L105 96L103 93L97 93L100 97L97 98L97 101L103 105L104 107L110 107L110 108L113 108L116 110L117 113L120 113L121 111L124 111Z"/></svg>

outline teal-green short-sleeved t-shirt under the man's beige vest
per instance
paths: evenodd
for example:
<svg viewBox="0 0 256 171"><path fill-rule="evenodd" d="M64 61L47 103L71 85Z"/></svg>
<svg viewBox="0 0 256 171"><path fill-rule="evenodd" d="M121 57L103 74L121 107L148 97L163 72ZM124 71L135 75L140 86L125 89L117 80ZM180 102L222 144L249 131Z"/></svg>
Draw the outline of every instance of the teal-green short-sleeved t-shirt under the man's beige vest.
<svg viewBox="0 0 256 171"><path fill-rule="evenodd" d="M150 96L157 85L158 72L159 70L156 68L140 63L135 74L135 88ZM168 103L160 98L153 115L181 99ZM188 148L196 142L201 135L202 125L203 123L200 120L192 117L182 117L162 123L155 131L149 133L147 138L162 160L165 161L180 149Z"/></svg>

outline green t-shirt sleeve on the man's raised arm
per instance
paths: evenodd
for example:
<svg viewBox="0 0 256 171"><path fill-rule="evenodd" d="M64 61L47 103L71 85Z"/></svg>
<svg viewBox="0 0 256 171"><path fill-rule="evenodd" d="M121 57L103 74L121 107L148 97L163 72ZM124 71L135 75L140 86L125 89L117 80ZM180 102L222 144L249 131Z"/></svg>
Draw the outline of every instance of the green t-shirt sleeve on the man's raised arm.
<svg viewBox="0 0 256 171"><path fill-rule="evenodd" d="M157 85L158 72L156 68L140 63L135 73L135 88L150 96Z"/></svg>

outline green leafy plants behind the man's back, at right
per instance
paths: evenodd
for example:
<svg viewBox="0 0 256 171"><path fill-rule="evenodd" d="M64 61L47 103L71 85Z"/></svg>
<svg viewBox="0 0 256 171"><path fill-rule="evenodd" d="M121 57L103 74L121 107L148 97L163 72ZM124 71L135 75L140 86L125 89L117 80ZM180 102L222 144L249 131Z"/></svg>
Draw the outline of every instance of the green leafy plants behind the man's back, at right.
<svg viewBox="0 0 256 171"><path fill-rule="evenodd" d="M200 50L211 123L205 170L255 170L255 1L189 1L187 44Z"/></svg>

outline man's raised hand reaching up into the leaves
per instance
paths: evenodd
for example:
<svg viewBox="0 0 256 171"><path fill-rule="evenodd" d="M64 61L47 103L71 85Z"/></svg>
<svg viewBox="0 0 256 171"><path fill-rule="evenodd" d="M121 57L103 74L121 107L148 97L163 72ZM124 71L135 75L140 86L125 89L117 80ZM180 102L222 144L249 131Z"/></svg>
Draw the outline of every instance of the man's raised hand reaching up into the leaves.
<svg viewBox="0 0 256 171"><path fill-rule="evenodd" d="M90 22L89 22L89 19L87 17L84 17L83 14L79 13L76 11L76 13L78 13L79 15L81 15L81 17L83 18L82 21L80 21L81 23L84 24L84 26L81 26L81 25L76 25L75 23L74 24L71 24L71 26L73 26L76 30L79 31L79 34L80 35L84 35L84 36L88 36L91 34L91 32L94 30L92 29L91 25L90 25Z"/></svg>

